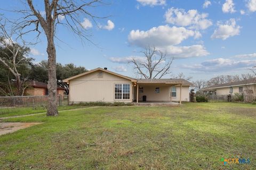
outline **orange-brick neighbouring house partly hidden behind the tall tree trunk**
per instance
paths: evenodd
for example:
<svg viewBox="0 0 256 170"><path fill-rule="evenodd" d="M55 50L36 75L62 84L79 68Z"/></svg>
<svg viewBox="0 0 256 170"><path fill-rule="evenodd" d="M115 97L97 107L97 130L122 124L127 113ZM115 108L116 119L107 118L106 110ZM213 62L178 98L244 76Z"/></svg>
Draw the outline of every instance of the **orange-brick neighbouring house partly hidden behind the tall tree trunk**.
<svg viewBox="0 0 256 170"><path fill-rule="evenodd" d="M45 96L48 95L47 84L39 81L28 81L28 88L25 90L25 94L28 96ZM63 95L65 88L57 86L57 94Z"/></svg>

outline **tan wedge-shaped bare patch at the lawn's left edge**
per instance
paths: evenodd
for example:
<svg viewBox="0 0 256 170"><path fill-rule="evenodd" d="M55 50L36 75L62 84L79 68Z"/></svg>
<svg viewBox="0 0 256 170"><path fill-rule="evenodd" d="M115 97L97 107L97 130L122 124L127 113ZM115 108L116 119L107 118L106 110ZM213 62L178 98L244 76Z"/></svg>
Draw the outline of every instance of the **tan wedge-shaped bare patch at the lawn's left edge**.
<svg viewBox="0 0 256 170"><path fill-rule="evenodd" d="M36 123L36 122L2 122L0 123L0 135L6 134L6 133L13 133L15 131L18 131L20 129L29 128L30 126L34 126L37 124L42 123Z"/></svg>

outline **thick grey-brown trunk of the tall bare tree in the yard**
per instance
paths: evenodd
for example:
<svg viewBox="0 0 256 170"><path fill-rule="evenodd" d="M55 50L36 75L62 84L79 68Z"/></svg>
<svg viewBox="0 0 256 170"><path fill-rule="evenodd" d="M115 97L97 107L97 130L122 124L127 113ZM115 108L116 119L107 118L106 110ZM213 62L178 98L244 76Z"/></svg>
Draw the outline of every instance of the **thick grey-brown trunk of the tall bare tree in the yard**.
<svg viewBox="0 0 256 170"><path fill-rule="evenodd" d="M53 37L48 39L48 108L47 116L58 116L57 108L57 78L56 78L56 50Z"/></svg>

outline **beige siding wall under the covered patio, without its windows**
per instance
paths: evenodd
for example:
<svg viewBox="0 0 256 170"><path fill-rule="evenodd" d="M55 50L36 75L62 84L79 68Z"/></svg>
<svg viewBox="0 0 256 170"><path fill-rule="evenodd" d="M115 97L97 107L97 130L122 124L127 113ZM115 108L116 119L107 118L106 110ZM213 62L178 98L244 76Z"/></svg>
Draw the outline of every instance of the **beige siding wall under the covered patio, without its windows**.
<svg viewBox="0 0 256 170"><path fill-rule="evenodd" d="M176 97L171 98L170 84L139 84L143 87L143 93L139 92L139 101L142 101L143 96L147 96L147 101L179 101L180 100L180 86L176 86ZM159 87L159 94L155 89ZM137 91L137 89L135 89ZM137 92L135 92L137 94ZM136 96L135 96L136 98ZM189 86L182 86L181 100L189 101Z"/></svg>

